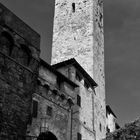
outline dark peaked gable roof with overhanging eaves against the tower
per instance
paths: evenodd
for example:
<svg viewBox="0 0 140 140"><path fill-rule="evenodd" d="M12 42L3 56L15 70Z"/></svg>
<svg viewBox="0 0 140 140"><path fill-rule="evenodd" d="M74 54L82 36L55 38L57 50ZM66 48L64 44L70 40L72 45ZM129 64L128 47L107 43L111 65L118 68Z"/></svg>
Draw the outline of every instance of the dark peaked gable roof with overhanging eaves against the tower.
<svg viewBox="0 0 140 140"><path fill-rule="evenodd" d="M81 74L88 80L92 87L97 87L97 83L91 78L91 76L82 68L82 66L74 59L71 58L69 60L54 64L52 67L55 69L61 68L63 66L73 65L75 66Z"/></svg>

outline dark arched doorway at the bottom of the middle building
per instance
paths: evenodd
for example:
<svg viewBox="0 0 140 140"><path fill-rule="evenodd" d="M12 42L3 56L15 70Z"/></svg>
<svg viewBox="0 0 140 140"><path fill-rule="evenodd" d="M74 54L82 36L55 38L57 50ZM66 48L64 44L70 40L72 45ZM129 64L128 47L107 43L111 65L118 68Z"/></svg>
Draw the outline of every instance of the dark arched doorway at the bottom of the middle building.
<svg viewBox="0 0 140 140"><path fill-rule="evenodd" d="M40 133L37 140L58 140L58 139L53 133L47 131L47 132Z"/></svg>

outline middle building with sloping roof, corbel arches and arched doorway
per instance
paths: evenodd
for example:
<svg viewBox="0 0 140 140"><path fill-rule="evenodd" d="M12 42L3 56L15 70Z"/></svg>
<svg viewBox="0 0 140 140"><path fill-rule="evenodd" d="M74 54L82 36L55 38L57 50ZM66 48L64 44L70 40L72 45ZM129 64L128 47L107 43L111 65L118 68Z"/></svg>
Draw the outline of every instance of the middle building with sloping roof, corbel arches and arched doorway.
<svg viewBox="0 0 140 140"><path fill-rule="evenodd" d="M77 84L41 60L38 88L33 94L32 122L28 125L27 135L38 137L49 132L52 135L44 135L45 139L54 140L55 136L58 140L69 140L71 107L77 87Z"/></svg>

